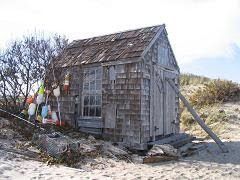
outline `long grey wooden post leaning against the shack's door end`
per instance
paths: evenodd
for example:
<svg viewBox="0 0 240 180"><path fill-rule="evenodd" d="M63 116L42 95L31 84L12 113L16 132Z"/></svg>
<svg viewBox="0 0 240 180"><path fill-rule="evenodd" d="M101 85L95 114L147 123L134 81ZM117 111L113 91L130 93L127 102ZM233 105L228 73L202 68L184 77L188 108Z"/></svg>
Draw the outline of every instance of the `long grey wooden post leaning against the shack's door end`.
<svg viewBox="0 0 240 180"><path fill-rule="evenodd" d="M198 116L196 111L193 109L193 107L190 105L190 103L187 101L187 99L181 94L179 89L175 86L173 81L171 79L167 79L170 86L173 88L173 90L178 94L179 98L182 100L183 104L187 107L188 111L192 114L194 119L197 121L197 123L203 128L203 130L217 143L219 148L222 150L222 152L227 153L228 149L223 144L223 142L216 136L216 134L213 133L213 131L204 123L204 121Z"/></svg>

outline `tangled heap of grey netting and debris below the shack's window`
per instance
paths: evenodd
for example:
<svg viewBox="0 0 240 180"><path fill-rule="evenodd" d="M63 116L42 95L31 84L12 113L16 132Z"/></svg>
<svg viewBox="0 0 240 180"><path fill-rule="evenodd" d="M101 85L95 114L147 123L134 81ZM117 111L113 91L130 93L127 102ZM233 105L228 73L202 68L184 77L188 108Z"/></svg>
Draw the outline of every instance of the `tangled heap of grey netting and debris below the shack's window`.
<svg viewBox="0 0 240 180"><path fill-rule="evenodd" d="M71 167L86 164L87 159L89 161L89 159L102 157L127 160L130 156L130 153L123 147L97 140L93 136L73 139L59 132L34 134L32 143L45 153L43 158L48 163L63 163ZM46 155L49 158L46 158Z"/></svg>

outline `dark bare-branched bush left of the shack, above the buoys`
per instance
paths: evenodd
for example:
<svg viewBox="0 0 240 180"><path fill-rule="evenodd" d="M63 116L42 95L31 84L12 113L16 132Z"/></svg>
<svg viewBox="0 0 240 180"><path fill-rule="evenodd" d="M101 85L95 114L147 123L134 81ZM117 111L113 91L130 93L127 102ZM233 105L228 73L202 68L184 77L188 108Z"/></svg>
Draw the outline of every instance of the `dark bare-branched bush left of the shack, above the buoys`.
<svg viewBox="0 0 240 180"><path fill-rule="evenodd" d="M47 38L32 35L14 41L2 51L0 105L14 111L24 107L33 85L44 79L50 61L59 55L67 44L68 40L59 35Z"/></svg>

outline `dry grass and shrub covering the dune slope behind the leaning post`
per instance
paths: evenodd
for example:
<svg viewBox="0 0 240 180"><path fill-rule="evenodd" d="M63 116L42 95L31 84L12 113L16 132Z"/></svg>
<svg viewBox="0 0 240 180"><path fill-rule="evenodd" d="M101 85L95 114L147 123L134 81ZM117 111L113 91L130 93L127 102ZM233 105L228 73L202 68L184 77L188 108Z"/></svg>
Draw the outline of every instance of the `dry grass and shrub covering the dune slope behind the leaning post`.
<svg viewBox="0 0 240 180"><path fill-rule="evenodd" d="M229 115L221 109L223 102L231 101L240 95L238 84L227 80L211 80L209 78L182 75L180 80L184 86L200 86L195 92L187 94L191 105L197 111L205 123L216 133L221 134L226 129ZM187 79L187 81L186 81ZM208 138L209 136L201 129L192 115L180 103L180 121L181 129L195 136Z"/></svg>

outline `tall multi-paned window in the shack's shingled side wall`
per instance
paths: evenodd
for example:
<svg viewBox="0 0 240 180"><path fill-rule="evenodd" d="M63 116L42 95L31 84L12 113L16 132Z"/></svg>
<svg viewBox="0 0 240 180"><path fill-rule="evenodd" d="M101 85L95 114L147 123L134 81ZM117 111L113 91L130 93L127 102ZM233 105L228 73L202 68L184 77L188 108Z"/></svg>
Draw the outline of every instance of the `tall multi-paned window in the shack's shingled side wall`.
<svg viewBox="0 0 240 180"><path fill-rule="evenodd" d="M84 70L83 116L101 117L102 114L102 71L101 68Z"/></svg>

